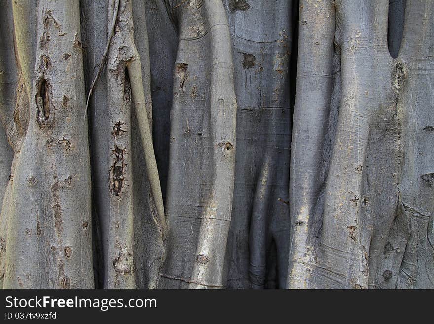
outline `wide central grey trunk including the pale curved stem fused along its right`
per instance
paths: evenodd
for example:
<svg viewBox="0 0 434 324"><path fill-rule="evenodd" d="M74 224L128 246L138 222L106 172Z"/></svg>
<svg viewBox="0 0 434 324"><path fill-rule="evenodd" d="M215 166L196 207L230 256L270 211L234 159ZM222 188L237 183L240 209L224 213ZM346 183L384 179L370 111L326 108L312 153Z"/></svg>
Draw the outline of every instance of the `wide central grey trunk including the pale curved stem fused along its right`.
<svg viewBox="0 0 434 324"><path fill-rule="evenodd" d="M229 30L220 1L185 1L173 9L180 42L166 202L168 256L160 288L221 288L235 154Z"/></svg>

